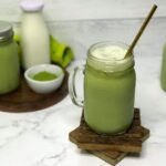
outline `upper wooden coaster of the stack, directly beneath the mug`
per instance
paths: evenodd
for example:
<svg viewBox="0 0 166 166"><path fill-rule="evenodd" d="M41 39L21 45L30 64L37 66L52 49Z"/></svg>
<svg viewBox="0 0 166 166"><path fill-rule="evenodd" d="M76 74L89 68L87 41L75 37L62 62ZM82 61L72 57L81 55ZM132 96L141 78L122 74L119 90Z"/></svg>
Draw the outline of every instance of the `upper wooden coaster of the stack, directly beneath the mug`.
<svg viewBox="0 0 166 166"><path fill-rule="evenodd" d="M142 138L144 132L141 126L139 110L135 110L134 120L129 129L121 135L101 135L93 132L85 123L83 116L81 125L70 133L82 149L91 151L121 151L139 153L142 151Z"/></svg>

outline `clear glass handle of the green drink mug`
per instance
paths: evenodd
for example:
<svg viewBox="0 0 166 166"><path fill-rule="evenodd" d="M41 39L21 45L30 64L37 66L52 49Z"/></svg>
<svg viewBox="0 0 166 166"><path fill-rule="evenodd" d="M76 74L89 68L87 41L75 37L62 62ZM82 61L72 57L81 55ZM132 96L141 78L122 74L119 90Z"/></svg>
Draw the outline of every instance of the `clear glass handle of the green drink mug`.
<svg viewBox="0 0 166 166"><path fill-rule="evenodd" d="M77 72L82 72L84 74L85 65L76 66L71 73L69 77L69 94L71 96L72 102L77 105L83 107L84 101L79 98L75 90L75 76Z"/></svg>

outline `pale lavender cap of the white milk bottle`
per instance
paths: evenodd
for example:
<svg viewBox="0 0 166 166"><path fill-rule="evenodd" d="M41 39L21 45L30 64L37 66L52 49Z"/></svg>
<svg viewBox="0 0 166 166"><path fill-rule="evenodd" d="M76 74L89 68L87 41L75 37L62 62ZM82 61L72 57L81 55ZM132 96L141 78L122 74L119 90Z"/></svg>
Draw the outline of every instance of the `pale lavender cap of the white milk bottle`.
<svg viewBox="0 0 166 166"><path fill-rule="evenodd" d="M42 0L22 0L20 7L23 11L40 11L44 3Z"/></svg>

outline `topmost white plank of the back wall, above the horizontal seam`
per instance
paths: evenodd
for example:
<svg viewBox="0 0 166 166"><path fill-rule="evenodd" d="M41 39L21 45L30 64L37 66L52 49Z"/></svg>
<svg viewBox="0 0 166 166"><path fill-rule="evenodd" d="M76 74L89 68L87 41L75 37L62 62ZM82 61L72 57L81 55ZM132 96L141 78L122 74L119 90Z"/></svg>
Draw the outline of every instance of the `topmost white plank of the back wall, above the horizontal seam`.
<svg viewBox="0 0 166 166"><path fill-rule="evenodd" d="M0 20L18 22L21 0L0 0ZM48 21L110 18L142 18L153 2L158 4L155 17L166 15L166 0L44 0Z"/></svg>

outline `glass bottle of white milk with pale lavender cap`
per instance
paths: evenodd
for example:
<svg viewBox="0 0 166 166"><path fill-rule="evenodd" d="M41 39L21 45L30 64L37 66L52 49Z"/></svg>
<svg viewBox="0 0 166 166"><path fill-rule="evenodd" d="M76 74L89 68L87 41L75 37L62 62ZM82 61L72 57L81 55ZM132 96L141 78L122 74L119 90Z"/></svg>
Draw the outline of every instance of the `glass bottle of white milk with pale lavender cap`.
<svg viewBox="0 0 166 166"><path fill-rule="evenodd" d="M41 0L23 0L21 2L21 48L23 68L50 63L50 37L42 17L44 7Z"/></svg>

